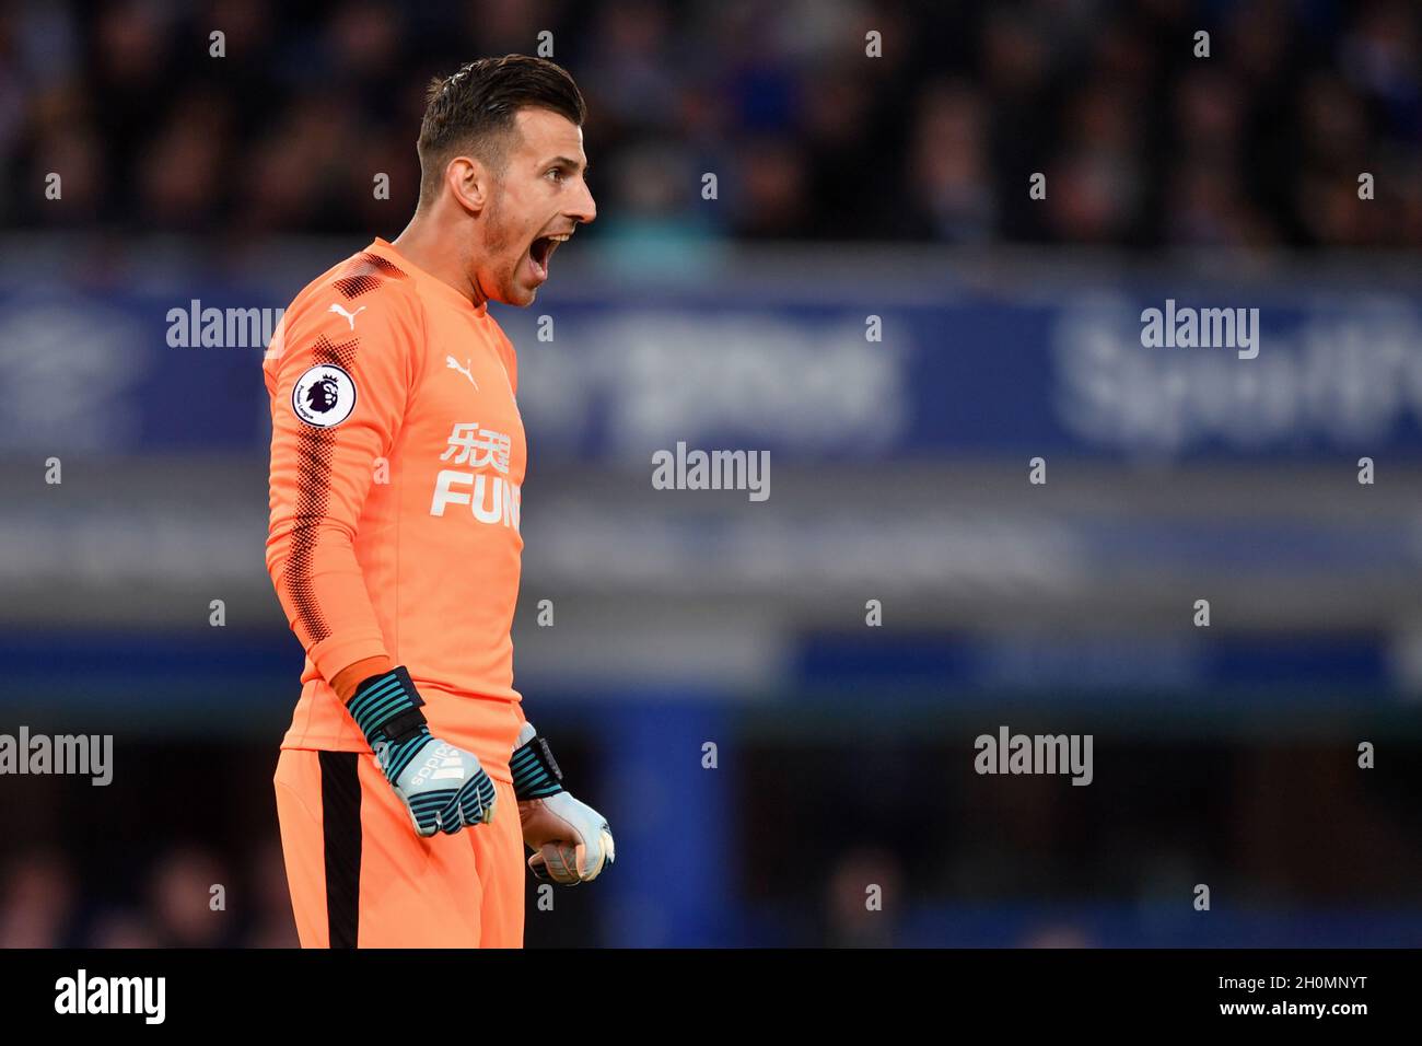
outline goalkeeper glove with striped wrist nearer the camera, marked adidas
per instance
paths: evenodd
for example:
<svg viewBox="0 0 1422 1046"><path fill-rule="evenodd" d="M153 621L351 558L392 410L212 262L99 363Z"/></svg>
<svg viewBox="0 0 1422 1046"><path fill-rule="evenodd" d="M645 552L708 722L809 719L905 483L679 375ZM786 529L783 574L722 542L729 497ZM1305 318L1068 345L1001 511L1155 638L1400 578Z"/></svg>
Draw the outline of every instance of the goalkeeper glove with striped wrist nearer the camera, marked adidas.
<svg viewBox="0 0 1422 1046"><path fill-rule="evenodd" d="M478 757L429 733L424 700L401 665L356 687L347 709L419 835L454 835L493 818L493 781Z"/></svg>

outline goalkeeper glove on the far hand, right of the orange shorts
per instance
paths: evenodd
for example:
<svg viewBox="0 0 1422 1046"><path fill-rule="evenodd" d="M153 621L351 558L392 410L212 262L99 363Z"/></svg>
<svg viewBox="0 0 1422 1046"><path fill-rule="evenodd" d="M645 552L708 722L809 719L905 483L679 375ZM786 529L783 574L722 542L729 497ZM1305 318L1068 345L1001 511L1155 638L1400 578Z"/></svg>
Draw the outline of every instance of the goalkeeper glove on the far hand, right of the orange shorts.
<svg viewBox="0 0 1422 1046"><path fill-rule="evenodd" d="M532 723L519 729L509 770L523 841L535 851L529 858L533 877L565 887L596 879L614 857L607 818L563 788L563 771Z"/></svg>

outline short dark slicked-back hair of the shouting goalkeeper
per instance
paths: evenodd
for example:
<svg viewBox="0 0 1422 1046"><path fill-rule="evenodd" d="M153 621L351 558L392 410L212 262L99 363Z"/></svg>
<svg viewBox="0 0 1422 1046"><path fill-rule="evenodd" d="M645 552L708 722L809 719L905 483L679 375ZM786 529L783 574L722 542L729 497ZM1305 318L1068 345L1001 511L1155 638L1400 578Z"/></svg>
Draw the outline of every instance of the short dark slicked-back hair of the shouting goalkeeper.
<svg viewBox="0 0 1422 1046"><path fill-rule="evenodd" d="M468 151L495 171L508 162L513 118L522 108L552 110L579 127L587 105L562 65L547 58L506 54L479 58L452 77L429 81L419 124L419 199L434 199L449 158Z"/></svg>

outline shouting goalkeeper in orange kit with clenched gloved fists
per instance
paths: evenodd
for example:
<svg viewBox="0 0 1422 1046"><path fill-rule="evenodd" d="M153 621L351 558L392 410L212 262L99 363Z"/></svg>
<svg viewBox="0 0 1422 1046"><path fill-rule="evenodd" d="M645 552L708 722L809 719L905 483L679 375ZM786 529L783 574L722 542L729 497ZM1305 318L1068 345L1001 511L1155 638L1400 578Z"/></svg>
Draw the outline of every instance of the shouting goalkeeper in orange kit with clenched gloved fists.
<svg viewBox="0 0 1422 1046"><path fill-rule="evenodd" d="M550 61L431 85L419 204L313 280L263 364L266 562L306 649L274 776L303 946L523 942L525 854L573 885L613 862L513 689L528 306L596 218L586 110Z"/></svg>

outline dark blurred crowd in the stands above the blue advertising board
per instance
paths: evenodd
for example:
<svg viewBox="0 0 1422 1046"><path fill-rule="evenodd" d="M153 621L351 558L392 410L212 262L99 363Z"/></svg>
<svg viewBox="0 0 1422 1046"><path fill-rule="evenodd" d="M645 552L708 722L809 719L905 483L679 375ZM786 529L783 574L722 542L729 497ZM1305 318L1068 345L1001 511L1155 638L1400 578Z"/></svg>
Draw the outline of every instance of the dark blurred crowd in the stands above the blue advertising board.
<svg viewBox="0 0 1422 1046"><path fill-rule="evenodd" d="M1422 243L1409 0L17 0L0 218L397 233L429 78L543 31L589 98L597 236Z"/></svg>

